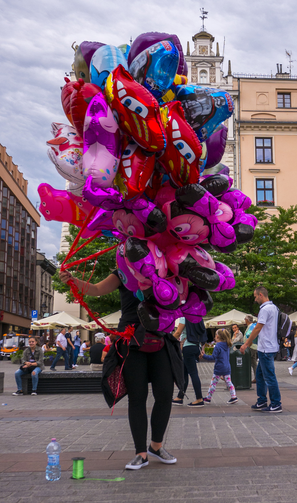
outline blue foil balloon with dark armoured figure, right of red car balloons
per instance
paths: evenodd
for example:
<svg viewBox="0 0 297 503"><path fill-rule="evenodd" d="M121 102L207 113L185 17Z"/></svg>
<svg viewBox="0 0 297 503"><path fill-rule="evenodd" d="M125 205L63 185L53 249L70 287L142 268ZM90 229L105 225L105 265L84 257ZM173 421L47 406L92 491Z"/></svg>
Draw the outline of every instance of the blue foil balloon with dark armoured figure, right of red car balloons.
<svg viewBox="0 0 297 503"><path fill-rule="evenodd" d="M175 96L200 141L205 141L215 128L232 116L233 100L227 91L203 86L176 86Z"/></svg>

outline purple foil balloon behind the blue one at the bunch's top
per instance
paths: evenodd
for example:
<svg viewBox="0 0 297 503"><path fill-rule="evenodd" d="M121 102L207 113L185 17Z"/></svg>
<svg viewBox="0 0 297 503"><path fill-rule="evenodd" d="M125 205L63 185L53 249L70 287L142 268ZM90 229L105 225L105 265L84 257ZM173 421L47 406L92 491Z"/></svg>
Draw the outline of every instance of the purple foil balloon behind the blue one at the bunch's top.
<svg viewBox="0 0 297 503"><path fill-rule="evenodd" d="M178 49L179 52L179 65L177 69L178 75L183 75L184 70L184 52L181 46L180 40L177 35L169 35L169 33L159 33L159 32L150 32L150 33L141 33L135 40L132 42L131 49L128 54L128 66L132 63L133 59L140 54L140 52L144 51L151 45L156 44L157 42L161 42L162 40L168 40L172 42Z"/></svg>

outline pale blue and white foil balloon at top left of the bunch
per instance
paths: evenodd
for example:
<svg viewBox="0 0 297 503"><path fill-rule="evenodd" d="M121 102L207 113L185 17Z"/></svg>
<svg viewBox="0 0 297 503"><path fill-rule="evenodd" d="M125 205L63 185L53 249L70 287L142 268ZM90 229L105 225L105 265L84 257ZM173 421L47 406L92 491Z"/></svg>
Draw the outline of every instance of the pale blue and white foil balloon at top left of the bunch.
<svg viewBox="0 0 297 503"><path fill-rule="evenodd" d="M121 64L125 70L128 69L125 56L118 47L114 45L103 45L99 47L99 49L94 52L90 64L92 84L96 84L96 86L99 86L103 91L108 75L119 64Z"/></svg>

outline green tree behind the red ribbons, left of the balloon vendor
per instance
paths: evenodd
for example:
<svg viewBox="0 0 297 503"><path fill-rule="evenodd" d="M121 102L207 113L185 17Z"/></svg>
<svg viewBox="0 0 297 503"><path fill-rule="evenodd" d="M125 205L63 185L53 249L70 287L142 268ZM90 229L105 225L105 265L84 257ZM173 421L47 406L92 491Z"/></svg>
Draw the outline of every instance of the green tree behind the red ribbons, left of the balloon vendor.
<svg viewBox="0 0 297 503"><path fill-rule="evenodd" d="M69 246L73 243L76 236L78 235L79 228L75 225L69 225L69 235L65 237L68 241ZM79 246L86 242L86 239L80 239ZM97 251L109 248L114 244L117 244L118 239L112 237L97 237L91 243L87 244L84 248L82 248L78 253L73 256L69 262L74 262L79 259L83 259L89 257L90 255L97 253ZM66 257L65 253L57 254L57 260L61 264ZM73 277L78 279L83 279L84 281L90 280L91 283L98 283L99 281L104 280L111 271L116 268L116 248L111 251L108 251L106 254L101 255L97 258L97 262L95 265L95 259L88 260L85 263L79 265L79 267L75 266L73 268L68 269L68 271L72 274ZM94 268L95 265L95 268ZM94 269L94 272L93 272ZM59 293L66 293L66 301L68 303L73 302L73 296L70 293L70 287L65 285L59 280L58 271L53 276L53 288ZM98 312L100 316L105 316L107 314L118 311L121 308L119 291L115 290L114 292L103 295L102 297L92 297L90 295L84 296L85 302L88 304L90 309L93 312Z"/></svg>

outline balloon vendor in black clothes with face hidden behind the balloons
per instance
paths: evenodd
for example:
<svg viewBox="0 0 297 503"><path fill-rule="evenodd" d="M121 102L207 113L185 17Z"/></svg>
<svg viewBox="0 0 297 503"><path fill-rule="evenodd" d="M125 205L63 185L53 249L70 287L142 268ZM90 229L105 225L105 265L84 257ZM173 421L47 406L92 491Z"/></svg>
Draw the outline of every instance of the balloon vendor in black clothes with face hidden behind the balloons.
<svg viewBox="0 0 297 503"><path fill-rule="evenodd" d="M71 278L80 290L84 289L84 293L93 296L106 295L118 288L122 315L117 330L123 332L127 325L134 325L135 331L129 343L121 338L113 342L104 359L102 375L102 389L110 407L128 394L128 418L136 456L126 465L126 468L137 470L146 466L147 454L157 457L166 464L176 463L176 458L162 447L162 441L170 417L174 382L183 393L183 361L180 343L170 333L145 331L136 311L139 301L133 292L123 285L117 270L96 285L75 279L68 271L60 272L59 277L63 283L67 283ZM159 351L147 351L146 341L150 336L156 341ZM122 374L120 374L122 365ZM113 386L116 375L118 380L116 386ZM122 378L124 383L121 381ZM151 414L152 441L147 450L146 399L149 382L152 383L155 403Z"/></svg>

